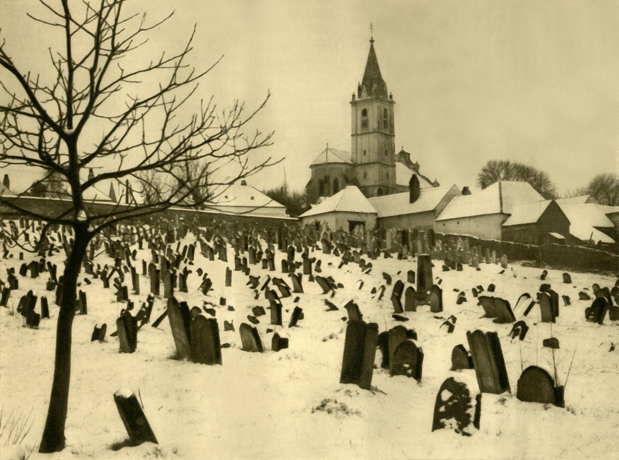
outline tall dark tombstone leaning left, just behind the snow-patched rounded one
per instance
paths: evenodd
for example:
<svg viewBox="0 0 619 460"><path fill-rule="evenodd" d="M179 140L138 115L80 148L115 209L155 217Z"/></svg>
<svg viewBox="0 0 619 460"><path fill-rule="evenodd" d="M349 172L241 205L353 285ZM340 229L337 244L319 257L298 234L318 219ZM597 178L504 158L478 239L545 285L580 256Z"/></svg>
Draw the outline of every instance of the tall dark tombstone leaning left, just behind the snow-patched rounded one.
<svg viewBox="0 0 619 460"><path fill-rule="evenodd" d="M482 393L511 391L498 334L492 331L467 331L477 383Z"/></svg>

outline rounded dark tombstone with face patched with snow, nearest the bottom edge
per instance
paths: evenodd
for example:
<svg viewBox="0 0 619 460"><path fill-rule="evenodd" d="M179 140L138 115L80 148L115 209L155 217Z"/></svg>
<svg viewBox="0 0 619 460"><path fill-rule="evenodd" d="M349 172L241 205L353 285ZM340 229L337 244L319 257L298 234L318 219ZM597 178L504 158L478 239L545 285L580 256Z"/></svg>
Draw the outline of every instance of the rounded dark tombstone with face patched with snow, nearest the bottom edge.
<svg viewBox="0 0 619 460"><path fill-rule="evenodd" d="M472 382L470 382L472 383ZM467 376L449 377L441 384L436 395L432 431L447 428L462 436L471 436L479 430L482 412L482 393L473 393Z"/></svg>

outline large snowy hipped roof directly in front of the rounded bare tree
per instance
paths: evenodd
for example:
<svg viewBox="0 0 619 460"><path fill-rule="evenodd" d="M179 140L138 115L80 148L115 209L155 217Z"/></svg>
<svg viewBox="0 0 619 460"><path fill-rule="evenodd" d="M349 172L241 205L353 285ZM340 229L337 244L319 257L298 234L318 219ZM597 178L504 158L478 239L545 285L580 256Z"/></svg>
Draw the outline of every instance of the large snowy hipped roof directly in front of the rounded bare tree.
<svg viewBox="0 0 619 460"><path fill-rule="evenodd" d="M543 197L527 182L499 181L479 193L454 197L436 220L460 219L474 215L511 214L514 204L542 200Z"/></svg>

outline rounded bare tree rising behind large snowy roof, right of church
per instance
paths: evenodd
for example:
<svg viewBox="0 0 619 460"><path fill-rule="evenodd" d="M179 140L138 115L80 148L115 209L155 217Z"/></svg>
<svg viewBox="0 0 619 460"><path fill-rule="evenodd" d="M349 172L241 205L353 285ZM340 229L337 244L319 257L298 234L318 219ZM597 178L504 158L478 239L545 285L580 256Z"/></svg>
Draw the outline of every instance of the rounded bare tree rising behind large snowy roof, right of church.
<svg viewBox="0 0 619 460"><path fill-rule="evenodd" d="M528 182L545 199L557 197L556 186L545 171L510 160L489 160L477 175L477 184L484 189L497 181Z"/></svg>

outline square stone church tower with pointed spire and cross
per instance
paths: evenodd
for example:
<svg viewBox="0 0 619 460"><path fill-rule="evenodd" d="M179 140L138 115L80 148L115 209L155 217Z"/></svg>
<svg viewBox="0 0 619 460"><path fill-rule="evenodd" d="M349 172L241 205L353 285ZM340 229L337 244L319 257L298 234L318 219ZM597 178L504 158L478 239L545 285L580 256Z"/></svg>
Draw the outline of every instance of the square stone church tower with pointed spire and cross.
<svg viewBox="0 0 619 460"><path fill-rule="evenodd" d="M352 162L365 196L396 193L396 143L394 105L381 76L370 38L370 53L363 79L350 101L352 115Z"/></svg>

